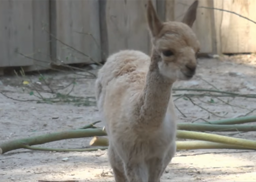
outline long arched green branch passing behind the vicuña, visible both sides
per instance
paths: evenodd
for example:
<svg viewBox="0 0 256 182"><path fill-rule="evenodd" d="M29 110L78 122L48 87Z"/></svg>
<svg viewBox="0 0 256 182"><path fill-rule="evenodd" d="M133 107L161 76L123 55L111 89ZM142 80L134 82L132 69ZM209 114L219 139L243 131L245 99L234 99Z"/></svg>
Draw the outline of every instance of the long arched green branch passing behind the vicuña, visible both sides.
<svg viewBox="0 0 256 182"><path fill-rule="evenodd" d="M106 135L107 135L106 132L102 131L102 129L77 129L77 130L63 131L58 133L44 134L40 136L33 136L33 137L23 138L23 139L16 139L16 140L7 141L5 143L0 144L0 154L6 153L11 150L20 149L20 148L27 148L32 150L44 150L43 148L31 147L31 145L40 145L40 144L44 144L52 141L58 141L62 139L85 138L85 137L106 136ZM178 130L177 138L211 141L215 143L239 146L242 148L256 149L256 141L251 141L248 139L233 138L228 136L220 136L217 134ZM53 150L58 151L58 149L53 149ZM61 151L63 151L63 149L61 149Z"/></svg>

